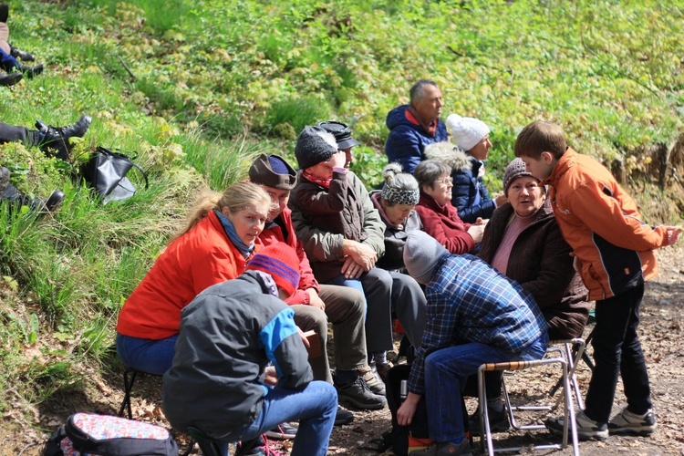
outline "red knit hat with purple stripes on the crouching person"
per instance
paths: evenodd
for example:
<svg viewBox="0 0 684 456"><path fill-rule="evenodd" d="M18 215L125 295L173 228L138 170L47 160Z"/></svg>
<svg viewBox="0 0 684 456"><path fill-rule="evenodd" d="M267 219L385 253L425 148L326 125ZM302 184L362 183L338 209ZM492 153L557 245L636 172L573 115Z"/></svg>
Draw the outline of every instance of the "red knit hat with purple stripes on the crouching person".
<svg viewBox="0 0 684 456"><path fill-rule="evenodd" d="M264 247L252 257L244 269L271 275L275 285L283 289L287 297L294 295L299 286L299 257L295 249L285 243Z"/></svg>

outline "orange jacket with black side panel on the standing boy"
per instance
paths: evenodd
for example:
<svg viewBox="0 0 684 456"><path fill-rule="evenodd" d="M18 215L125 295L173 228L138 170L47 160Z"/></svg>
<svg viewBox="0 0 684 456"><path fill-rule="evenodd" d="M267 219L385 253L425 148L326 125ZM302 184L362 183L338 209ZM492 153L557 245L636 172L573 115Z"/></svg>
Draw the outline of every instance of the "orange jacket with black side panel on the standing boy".
<svg viewBox="0 0 684 456"><path fill-rule="evenodd" d="M598 161L568 148L555 164L549 198L567 244L582 262L589 299L606 299L658 274L664 226L642 221L637 203Z"/></svg>

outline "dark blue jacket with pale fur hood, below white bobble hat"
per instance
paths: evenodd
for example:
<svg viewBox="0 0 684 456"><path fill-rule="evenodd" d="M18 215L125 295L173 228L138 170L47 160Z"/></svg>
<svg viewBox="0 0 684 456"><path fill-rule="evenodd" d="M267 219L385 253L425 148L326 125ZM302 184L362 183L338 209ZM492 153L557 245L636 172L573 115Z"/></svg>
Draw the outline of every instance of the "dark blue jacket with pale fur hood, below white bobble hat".
<svg viewBox="0 0 684 456"><path fill-rule="evenodd" d="M458 149L451 142L431 144L425 148L425 157L451 166L451 204L458 209L463 222L475 223L478 217L492 218L496 203L489 196L482 177L478 177L482 161Z"/></svg>

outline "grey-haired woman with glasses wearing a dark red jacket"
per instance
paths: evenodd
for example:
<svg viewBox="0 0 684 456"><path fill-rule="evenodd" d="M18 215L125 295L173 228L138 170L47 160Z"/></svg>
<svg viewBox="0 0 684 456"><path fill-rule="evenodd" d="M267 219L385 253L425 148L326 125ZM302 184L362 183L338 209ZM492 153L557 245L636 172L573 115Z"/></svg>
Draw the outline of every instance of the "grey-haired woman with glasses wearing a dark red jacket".
<svg viewBox="0 0 684 456"><path fill-rule="evenodd" d="M423 223L423 231L442 244L450 254L473 252L482 241L484 223L463 223L451 204L451 166L441 161L426 160L413 171L420 185L420 201L416 212Z"/></svg>

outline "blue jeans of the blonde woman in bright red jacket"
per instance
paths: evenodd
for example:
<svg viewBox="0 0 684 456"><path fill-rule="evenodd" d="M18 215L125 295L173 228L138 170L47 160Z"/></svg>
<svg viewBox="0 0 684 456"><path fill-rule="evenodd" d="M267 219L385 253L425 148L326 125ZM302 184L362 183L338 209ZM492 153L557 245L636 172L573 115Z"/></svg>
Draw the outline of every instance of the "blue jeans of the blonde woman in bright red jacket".
<svg viewBox="0 0 684 456"><path fill-rule="evenodd" d="M171 368L178 335L160 340L141 339L117 333L117 353L127 368L164 375Z"/></svg>

